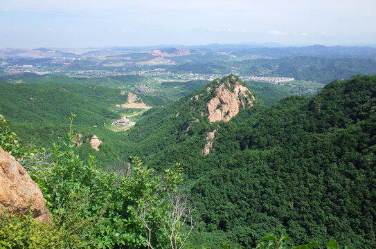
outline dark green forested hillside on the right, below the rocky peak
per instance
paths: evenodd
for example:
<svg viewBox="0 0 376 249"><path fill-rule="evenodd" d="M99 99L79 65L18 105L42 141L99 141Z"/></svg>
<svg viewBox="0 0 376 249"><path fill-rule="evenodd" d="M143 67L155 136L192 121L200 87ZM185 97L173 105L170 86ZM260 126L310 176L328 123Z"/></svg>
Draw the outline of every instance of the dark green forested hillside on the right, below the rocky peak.
<svg viewBox="0 0 376 249"><path fill-rule="evenodd" d="M183 163L201 221L191 243L251 247L285 230L301 243L376 247L376 76L254 104L229 122L208 122L195 95L147 111L128 136L150 167Z"/></svg>

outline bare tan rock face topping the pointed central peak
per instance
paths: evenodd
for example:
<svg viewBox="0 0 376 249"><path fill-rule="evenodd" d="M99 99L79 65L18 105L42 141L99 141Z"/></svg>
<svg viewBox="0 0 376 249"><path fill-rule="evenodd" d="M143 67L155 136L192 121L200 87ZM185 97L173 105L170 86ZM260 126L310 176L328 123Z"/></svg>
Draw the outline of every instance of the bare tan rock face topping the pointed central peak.
<svg viewBox="0 0 376 249"><path fill-rule="evenodd" d="M215 88L215 97L206 104L206 111L210 122L218 120L229 121L239 113L240 109L253 106L255 97L235 76L224 78L225 82ZM210 92L209 86L206 91Z"/></svg>

